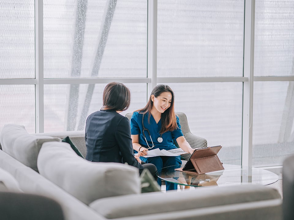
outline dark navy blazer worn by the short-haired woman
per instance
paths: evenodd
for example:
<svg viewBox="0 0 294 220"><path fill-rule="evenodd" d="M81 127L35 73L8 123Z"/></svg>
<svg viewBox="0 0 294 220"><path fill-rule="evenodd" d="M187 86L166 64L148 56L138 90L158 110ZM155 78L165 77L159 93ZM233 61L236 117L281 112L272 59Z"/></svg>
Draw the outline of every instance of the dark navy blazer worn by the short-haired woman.
<svg viewBox="0 0 294 220"><path fill-rule="evenodd" d="M88 116L85 129L86 160L128 163L143 169L134 157L130 121L113 110L100 110Z"/></svg>

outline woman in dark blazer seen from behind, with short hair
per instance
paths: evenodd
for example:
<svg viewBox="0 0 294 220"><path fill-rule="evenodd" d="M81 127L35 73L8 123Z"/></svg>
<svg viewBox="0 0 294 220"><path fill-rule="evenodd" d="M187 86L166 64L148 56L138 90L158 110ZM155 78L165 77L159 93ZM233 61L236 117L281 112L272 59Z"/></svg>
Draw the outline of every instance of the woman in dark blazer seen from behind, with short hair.
<svg viewBox="0 0 294 220"><path fill-rule="evenodd" d="M125 85L111 82L105 87L103 107L89 115L86 121L86 160L127 163L137 167L140 174L146 168L157 179L156 167L134 156L130 121L119 114L129 106L130 90Z"/></svg>

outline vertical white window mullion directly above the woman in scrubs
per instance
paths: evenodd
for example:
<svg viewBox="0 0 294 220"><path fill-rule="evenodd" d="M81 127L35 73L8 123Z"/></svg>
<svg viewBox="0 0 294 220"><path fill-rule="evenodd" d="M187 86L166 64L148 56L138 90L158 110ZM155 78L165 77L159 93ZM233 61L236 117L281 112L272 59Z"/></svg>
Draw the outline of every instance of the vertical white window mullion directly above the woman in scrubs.
<svg viewBox="0 0 294 220"><path fill-rule="evenodd" d="M157 85L157 0L148 1L147 21L147 100L150 92Z"/></svg>

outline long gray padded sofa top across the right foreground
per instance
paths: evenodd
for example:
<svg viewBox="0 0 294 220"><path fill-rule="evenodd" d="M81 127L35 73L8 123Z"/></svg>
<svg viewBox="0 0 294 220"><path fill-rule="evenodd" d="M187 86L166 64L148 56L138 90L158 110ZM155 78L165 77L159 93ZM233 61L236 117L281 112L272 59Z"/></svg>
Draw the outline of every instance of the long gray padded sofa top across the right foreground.
<svg viewBox="0 0 294 220"><path fill-rule="evenodd" d="M89 206L106 218L123 218L271 200L278 200L278 205L281 205L281 196L276 189L261 185L235 185L108 197Z"/></svg>

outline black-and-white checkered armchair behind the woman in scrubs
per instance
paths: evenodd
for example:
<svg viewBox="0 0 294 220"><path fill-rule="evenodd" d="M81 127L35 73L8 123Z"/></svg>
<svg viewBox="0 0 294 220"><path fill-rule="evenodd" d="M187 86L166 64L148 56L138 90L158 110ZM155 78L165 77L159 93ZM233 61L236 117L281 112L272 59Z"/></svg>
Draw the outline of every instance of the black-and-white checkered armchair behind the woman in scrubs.
<svg viewBox="0 0 294 220"><path fill-rule="evenodd" d="M205 138L198 137L190 132L190 128L188 125L187 116L183 112L175 112L175 114L179 117L181 129L186 141L190 144L191 148L205 148L207 147L207 141ZM133 113L126 113L126 117L130 120L132 118ZM177 145L177 143L176 143ZM183 167L187 160L189 160L191 154L183 154L181 155L182 166ZM165 182L162 181L162 185L165 185Z"/></svg>

